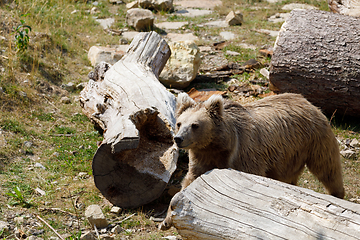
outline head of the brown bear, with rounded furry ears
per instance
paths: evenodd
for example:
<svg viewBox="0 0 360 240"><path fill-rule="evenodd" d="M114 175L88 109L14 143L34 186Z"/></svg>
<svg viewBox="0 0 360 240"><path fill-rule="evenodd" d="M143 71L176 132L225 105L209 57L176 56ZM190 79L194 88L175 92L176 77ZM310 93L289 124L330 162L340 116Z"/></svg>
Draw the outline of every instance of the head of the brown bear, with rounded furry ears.
<svg viewBox="0 0 360 240"><path fill-rule="evenodd" d="M175 143L183 149L205 148L212 142L223 114L224 100L220 95L196 103L186 93L180 93L176 102Z"/></svg>

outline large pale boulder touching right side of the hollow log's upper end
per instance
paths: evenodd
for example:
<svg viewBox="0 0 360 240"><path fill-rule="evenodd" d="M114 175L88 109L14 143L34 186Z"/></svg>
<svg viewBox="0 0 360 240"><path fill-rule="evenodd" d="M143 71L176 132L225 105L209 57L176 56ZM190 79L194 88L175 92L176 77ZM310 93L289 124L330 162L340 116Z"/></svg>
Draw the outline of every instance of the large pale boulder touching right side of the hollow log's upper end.
<svg viewBox="0 0 360 240"><path fill-rule="evenodd" d="M170 42L171 56L159 80L171 88L185 88L195 79L200 67L200 50L193 41Z"/></svg>

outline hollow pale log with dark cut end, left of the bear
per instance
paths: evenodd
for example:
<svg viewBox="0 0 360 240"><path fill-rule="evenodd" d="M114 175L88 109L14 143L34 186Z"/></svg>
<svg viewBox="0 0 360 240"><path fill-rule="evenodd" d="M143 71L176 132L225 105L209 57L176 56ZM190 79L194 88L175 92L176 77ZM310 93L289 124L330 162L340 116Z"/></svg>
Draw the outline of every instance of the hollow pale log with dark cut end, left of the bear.
<svg viewBox="0 0 360 240"><path fill-rule="evenodd" d="M158 81L169 56L157 33L140 33L125 56L108 70L103 64L92 76L97 81L80 93L84 113L104 130L93 158L94 181L117 206L138 207L158 198L176 168L176 100Z"/></svg>

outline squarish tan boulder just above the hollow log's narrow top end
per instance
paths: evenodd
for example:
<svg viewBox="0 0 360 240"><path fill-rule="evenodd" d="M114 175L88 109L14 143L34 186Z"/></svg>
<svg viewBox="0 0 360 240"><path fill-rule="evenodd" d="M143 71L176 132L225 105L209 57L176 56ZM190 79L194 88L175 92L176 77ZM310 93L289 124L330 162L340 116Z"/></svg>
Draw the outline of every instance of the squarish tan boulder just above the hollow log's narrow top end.
<svg viewBox="0 0 360 240"><path fill-rule="evenodd" d="M149 31L154 25L154 15L147 9L132 8L127 11L126 23L136 31Z"/></svg>

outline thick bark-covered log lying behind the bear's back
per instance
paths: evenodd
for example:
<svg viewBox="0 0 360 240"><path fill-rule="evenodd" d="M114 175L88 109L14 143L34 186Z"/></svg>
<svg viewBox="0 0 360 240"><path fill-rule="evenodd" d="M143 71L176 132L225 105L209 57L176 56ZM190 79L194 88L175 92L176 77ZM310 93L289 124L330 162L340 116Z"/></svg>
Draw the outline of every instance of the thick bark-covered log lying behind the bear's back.
<svg viewBox="0 0 360 240"><path fill-rule="evenodd" d="M301 93L324 112L360 116L360 19L294 10L275 43L270 89Z"/></svg>

